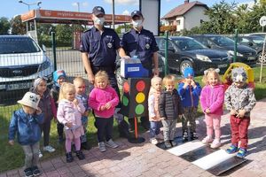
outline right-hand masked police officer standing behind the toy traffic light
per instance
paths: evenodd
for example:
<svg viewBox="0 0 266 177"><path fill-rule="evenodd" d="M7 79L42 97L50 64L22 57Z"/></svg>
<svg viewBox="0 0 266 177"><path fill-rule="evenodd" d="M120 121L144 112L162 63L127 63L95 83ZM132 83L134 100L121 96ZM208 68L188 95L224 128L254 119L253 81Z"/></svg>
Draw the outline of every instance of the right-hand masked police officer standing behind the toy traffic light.
<svg viewBox="0 0 266 177"><path fill-rule="evenodd" d="M137 56L141 60L142 65L149 71L149 76L159 75L158 70L158 53L159 50L152 32L144 29L143 23L145 18L139 11L131 13L132 28L124 34L121 40L121 46L126 51L126 54L131 58ZM153 68L154 66L154 68ZM134 121L129 119L131 128ZM145 129L149 129L149 119L142 117L141 125Z"/></svg>

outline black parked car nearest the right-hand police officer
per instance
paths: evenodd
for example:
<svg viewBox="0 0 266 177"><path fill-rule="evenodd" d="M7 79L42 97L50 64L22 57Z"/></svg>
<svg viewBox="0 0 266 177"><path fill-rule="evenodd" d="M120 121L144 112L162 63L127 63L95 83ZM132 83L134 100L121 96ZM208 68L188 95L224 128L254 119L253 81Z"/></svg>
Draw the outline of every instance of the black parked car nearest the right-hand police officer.
<svg viewBox="0 0 266 177"><path fill-rule="evenodd" d="M159 55L165 55L165 38L156 37ZM180 72L191 66L195 73L203 73L210 67L225 71L231 64L229 55L220 50L210 50L190 37L171 37L168 40L168 69L170 73Z"/></svg>

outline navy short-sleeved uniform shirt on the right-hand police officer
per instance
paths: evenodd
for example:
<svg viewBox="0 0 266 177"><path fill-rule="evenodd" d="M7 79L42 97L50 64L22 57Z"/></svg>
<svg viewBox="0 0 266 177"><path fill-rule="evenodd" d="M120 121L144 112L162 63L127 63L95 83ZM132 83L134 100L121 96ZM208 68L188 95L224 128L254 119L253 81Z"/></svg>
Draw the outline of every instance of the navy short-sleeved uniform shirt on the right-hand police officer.
<svg viewBox="0 0 266 177"><path fill-rule="evenodd" d="M123 35L121 46L128 56L137 56L148 69L153 65L153 53L159 50L153 33L144 28L140 33L132 28Z"/></svg>

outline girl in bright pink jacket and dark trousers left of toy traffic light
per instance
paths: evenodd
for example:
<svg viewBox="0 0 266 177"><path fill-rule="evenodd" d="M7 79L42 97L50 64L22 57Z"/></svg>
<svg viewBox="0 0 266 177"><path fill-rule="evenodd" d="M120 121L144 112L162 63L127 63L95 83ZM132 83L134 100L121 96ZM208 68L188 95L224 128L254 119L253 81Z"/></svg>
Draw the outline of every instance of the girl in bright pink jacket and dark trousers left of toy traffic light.
<svg viewBox="0 0 266 177"><path fill-rule="evenodd" d="M95 75L95 88L91 90L89 105L94 111L95 127L97 127L98 148L101 152L106 151L106 146L117 148L113 142L113 114L119 97L115 89L109 85L108 75L105 71L99 71Z"/></svg>

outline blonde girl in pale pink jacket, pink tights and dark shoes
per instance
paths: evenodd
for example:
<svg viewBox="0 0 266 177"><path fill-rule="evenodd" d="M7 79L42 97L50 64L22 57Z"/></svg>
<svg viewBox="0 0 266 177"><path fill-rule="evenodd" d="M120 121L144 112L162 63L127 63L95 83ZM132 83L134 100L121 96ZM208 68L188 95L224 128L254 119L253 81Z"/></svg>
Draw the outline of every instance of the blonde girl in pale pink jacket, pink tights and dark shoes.
<svg viewBox="0 0 266 177"><path fill-rule="evenodd" d="M66 162L73 161L71 145L74 142L76 156L82 160L85 156L81 150L81 136L84 135L82 127L82 113L85 108L81 101L75 98L74 84L64 82L59 92L58 120L65 126L66 135Z"/></svg>

